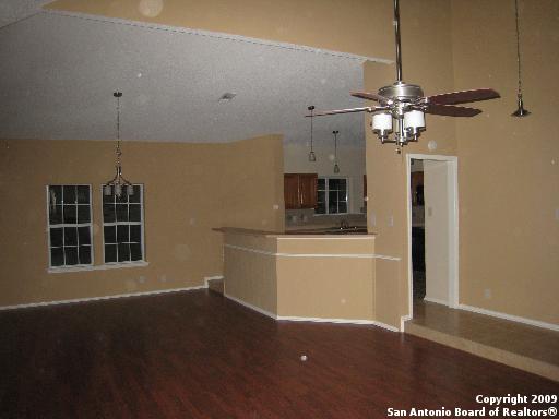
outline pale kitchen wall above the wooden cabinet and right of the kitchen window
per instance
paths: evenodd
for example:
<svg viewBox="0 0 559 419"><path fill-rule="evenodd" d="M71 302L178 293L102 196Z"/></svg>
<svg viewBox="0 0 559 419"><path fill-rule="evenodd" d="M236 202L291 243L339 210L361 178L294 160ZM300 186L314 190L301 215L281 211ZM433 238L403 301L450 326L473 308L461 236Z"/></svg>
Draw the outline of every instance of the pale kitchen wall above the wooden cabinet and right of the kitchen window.
<svg viewBox="0 0 559 419"><path fill-rule="evenodd" d="M364 206L362 176L365 175L364 147L337 147L340 173L334 175L334 145L313 146L317 161L310 163L309 146L305 144L284 145L284 170L286 173L318 173L325 177L345 177L349 179L349 212L360 213Z"/></svg>

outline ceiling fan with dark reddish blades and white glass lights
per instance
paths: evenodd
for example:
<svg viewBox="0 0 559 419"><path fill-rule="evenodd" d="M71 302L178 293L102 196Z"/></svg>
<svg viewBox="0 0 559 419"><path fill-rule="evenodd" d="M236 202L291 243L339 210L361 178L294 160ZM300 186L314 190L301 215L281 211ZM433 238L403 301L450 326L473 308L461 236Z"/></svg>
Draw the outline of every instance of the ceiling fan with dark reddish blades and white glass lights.
<svg viewBox="0 0 559 419"><path fill-rule="evenodd" d="M481 110L455 106L472 101L480 101L499 98L499 94L491 88L477 88L442 93L433 96L424 96L424 91L416 84L402 81L402 46L400 40L400 4L394 0L394 32L396 41L396 81L390 86L384 86L378 93L354 92L352 96L379 103L378 106L362 108L349 108L313 112L307 117L324 115L369 112L372 116L372 132L382 144L394 143L397 153L408 142L417 141L421 131L425 131L425 113L442 115L448 117L474 117ZM390 134L394 132L394 137Z"/></svg>

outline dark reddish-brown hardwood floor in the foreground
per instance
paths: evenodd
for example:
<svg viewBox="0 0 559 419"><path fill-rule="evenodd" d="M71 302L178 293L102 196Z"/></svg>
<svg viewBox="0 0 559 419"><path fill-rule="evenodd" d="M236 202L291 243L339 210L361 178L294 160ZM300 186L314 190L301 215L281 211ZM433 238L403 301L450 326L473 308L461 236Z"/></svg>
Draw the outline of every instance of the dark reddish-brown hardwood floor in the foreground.
<svg viewBox="0 0 559 419"><path fill-rule="evenodd" d="M415 336L277 323L205 290L0 312L0 418L385 418L559 393Z"/></svg>

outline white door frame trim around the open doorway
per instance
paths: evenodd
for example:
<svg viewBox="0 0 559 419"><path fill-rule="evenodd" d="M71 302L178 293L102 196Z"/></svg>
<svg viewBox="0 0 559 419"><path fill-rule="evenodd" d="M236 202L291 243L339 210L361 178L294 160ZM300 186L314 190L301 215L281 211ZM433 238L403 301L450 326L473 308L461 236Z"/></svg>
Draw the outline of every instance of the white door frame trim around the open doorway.
<svg viewBox="0 0 559 419"><path fill-rule="evenodd" d="M453 227L450 228L450 247L449 249L449 267L450 267L450 278L449 278L449 307L457 308L459 307L459 159L456 156L443 156L443 155L431 155L431 154L407 154L406 155L406 177L407 177L407 188L406 188L406 202L407 202L407 284L409 288L409 315L408 319L412 319L414 315L413 309L413 267L412 267L412 159L418 160L436 160L436 161L448 161L450 164L450 184L451 190L449 193L449 208L451 208L449 214L449 219Z"/></svg>

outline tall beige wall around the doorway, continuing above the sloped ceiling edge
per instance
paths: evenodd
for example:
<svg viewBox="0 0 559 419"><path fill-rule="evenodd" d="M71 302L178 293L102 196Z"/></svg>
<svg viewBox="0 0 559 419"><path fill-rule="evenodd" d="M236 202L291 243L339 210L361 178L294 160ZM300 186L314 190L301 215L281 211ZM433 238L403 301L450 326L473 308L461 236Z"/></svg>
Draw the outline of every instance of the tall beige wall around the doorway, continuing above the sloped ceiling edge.
<svg viewBox="0 0 559 419"><path fill-rule="evenodd" d="M132 0L59 0L53 8L289 41L319 48L394 57L392 2L385 0L166 0L145 17ZM514 120L513 2L406 0L401 4L404 80L427 94L493 87L502 99L479 104L474 119L427 118L427 132L406 153L459 156L460 299L462 303L558 323L559 2L520 1L526 106ZM393 69L365 65L366 89L392 83ZM366 125L367 127L367 125ZM367 133L368 223L379 253L403 258L379 271L406 314L407 226L404 158ZM376 179L376 180L372 180ZM391 218L393 217L393 218ZM393 219L393 223L389 223ZM373 220L376 220L373 225ZM389 263L389 262L385 262ZM393 275L396 275L394 278ZM383 278L383 275L388 275ZM485 290L491 298L485 298Z"/></svg>

